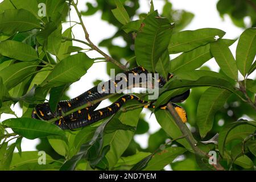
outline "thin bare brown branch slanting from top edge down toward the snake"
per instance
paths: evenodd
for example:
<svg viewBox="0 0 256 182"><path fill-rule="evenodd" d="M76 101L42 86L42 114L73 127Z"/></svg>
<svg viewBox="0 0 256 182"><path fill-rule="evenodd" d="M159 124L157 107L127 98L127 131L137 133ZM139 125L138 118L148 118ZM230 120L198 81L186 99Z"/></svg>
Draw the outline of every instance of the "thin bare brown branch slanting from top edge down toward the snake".
<svg viewBox="0 0 256 182"><path fill-rule="evenodd" d="M104 56L106 58L107 61L110 61L111 63L117 65L119 68L121 68L124 71L127 71L127 68L122 65L121 63L119 63L117 60L113 59L112 57L110 57L109 55L107 55L105 52L101 51L100 48L98 48L96 45L93 44L93 42L90 40L89 38L89 34L88 31L86 30L86 27L84 25L84 22L82 21L82 15L79 12L79 10L77 9L77 5L76 3L72 0L72 6L75 7L76 13L79 16L79 20L80 20L80 24L82 26L82 29L84 30L84 34L85 34L85 39L88 41L89 45L92 49L94 49L95 51L97 51L98 53L100 53L102 56ZM87 45L87 44L86 44Z"/></svg>

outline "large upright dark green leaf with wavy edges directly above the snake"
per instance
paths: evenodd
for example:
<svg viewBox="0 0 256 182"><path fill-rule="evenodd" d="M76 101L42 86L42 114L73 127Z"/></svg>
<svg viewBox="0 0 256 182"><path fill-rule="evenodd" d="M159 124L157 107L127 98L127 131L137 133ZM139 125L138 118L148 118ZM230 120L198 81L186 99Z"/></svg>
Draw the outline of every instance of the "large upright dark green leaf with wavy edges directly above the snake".
<svg viewBox="0 0 256 182"><path fill-rule="evenodd" d="M148 15L135 39L137 63L155 72L156 63L166 51L171 39L172 26L168 19L159 18L157 11Z"/></svg>

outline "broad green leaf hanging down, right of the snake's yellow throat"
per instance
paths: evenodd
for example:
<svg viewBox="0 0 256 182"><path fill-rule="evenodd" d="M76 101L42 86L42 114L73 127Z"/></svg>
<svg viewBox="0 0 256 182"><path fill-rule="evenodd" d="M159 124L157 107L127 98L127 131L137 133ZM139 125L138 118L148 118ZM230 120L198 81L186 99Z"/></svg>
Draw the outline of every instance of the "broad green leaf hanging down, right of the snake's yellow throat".
<svg viewBox="0 0 256 182"><path fill-rule="evenodd" d="M232 92L229 90L211 86L200 97L196 121L201 138L204 138L212 130L214 115L222 108L230 94Z"/></svg>

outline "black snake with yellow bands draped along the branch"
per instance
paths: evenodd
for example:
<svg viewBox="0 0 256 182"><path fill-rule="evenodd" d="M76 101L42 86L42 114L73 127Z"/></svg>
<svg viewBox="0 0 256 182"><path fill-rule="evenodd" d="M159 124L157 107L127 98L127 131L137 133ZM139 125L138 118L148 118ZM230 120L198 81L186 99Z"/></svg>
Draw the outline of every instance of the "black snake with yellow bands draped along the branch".
<svg viewBox="0 0 256 182"><path fill-rule="evenodd" d="M138 76L140 74L144 73L145 75L148 73L146 69L143 67L136 67L131 69L130 71L127 71L124 74L123 79L126 81L126 88L130 88L131 86L134 87L134 85L129 85L129 75L135 75ZM172 74L169 73L168 80L172 78ZM147 77L146 77L147 78ZM167 81L168 81L167 80ZM116 86L119 81L109 80L107 81L108 85L114 84ZM137 82L137 84L141 84L141 80ZM157 80L159 88L162 87L164 84L166 84L166 80L163 77L159 77ZM95 110L96 107L100 104L100 102L97 102L97 104L94 104L89 107L85 107L84 109L78 110L76 112L73 112L72 114L66 115L62 117L63 113L67 113L68 111L77 108L79 106L85 105L88 102L97 100L99 98L108 96L109 94L112 94L113 92L110 92L111 87L105 88L105 86L101 86L101 90L98 91L98 85L94 86L92 89L89 89L88 91L82 93L80 96L72 98L68 101L60 101L57 104L57 109L55 112L52 112L49 103L44 102L43 104L38 104L35 106L35 109L32 111L32 118L35 119L42 119L44 121L47 121L49 119L53 119L56 117L60 117L59 120L55 122L55 125L59 126L61 129L77 129L79 127L84 127L87 125L90 125L94 122L100 121L101 119L104 119L106 117L109 117L110 115L116 113L123 104L125 104L128 100L137 100L141 104L145 104L144 107L147 108L154 108L154 101L148 102L141 100L139 97L134 96L133 94L126 94L119 98L117 101L115 101L112 105L108 107L104 107L102 109ZM122 87L122 86L121 86ZM122 88L125 89L125 88ZM170 99L171 102L182 102L189 96L189 90L186 92L172 97ZM173 104L175 110L179 114L181 120L183 122L187 121L187 115L185 113L185 110L176 105ZM166 109L165 105L160 106L160 109Z"/></svg>

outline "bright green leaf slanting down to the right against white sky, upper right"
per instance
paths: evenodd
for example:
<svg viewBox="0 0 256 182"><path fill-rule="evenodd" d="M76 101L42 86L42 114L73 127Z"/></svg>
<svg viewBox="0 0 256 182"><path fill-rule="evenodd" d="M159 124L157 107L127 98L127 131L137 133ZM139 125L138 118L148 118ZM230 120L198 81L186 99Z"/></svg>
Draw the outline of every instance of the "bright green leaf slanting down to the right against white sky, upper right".
<svg viewBox="0 0 256 182"><path fill-rule="evenodd" d="M238 69L236 66L236 61L223 40L218 40L217 42L210 43L210 52L214 56L216 62L222 69L222 71L230 78L237 80Z"/></svg>

